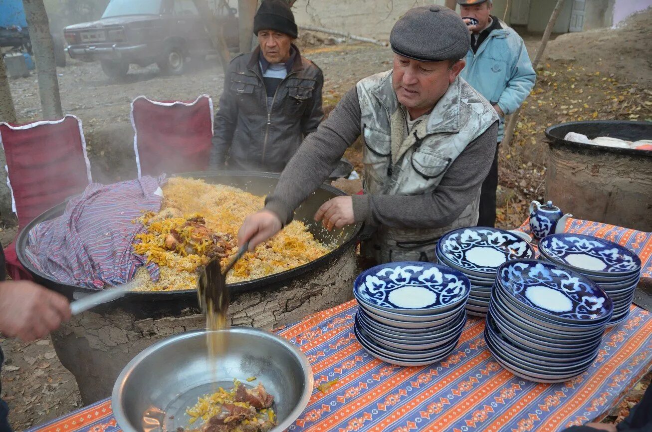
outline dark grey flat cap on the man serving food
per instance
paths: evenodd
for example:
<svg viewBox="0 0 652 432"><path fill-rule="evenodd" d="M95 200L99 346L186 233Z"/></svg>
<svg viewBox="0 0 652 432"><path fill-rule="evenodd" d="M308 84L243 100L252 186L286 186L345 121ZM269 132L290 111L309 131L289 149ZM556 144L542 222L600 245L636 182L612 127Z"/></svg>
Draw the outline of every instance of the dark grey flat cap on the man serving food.
<svg viewBox="0 0 652 432"><path fill-rule="evenodd" d="M411 8L389 35L392 50L420 61L458 60L466 57L471 35L462 18L443 6Z"/></svg>

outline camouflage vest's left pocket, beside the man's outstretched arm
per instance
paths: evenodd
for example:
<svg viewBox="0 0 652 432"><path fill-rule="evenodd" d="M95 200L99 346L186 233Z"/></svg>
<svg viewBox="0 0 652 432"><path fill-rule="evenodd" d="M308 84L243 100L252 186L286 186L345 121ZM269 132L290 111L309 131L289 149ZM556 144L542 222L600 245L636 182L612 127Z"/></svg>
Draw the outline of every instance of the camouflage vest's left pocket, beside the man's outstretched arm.
<svg viewBox="0 0 652 432"><path fill-rule="evenodd" d="M385 132L363 126L363 164L365 192L379 192L389 179L387 169L391 158L392 139Z"/></svg>

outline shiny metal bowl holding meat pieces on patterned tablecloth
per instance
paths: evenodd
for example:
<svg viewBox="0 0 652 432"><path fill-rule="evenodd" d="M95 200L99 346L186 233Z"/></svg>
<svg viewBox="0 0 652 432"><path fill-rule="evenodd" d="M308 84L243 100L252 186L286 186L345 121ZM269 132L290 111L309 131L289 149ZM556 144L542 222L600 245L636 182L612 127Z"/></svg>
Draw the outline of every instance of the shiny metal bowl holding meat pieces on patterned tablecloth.
<svg viewBox="0 0 652 432"><path fill-rule="evenodd" d="M257 328L217 330L226 349L215 364L208 358L207 332L187 332L155 343L127 364L111 396L113 414L125 432L175 431L190 426L186 409L197 398L238 379L248 387L259 382L274 396L278 425L288 428L308 405L313 390L306 356L286 339ZM256 377L256 381L246 381Z"/></svg>

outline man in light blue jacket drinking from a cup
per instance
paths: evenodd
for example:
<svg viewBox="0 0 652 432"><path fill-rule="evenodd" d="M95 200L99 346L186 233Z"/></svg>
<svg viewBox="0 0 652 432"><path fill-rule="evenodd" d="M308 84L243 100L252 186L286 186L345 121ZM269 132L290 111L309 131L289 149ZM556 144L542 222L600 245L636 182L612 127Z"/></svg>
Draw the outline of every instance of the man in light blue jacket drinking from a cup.
<svg viewBox="0 0 652 432"><path fill-rule="evenodd" d="M471 47L466 67L460 76L491 102L500 117L498 143L505 133L505 115L526 100L534 87L537 73L532 68L523 39L492 16L492 0L457 0L460 14L471 31ZM498 147L494 163L482 183L478 225L496 223L496 188L498 186Z"/></svg>

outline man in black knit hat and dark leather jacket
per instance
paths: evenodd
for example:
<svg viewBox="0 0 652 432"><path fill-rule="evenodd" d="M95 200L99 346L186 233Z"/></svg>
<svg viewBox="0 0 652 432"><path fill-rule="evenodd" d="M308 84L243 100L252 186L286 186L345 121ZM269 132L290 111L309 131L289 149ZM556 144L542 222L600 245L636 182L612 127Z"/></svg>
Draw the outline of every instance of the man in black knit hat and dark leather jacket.
<svg viewBox="0 0 652 432"><path fill-rule="evenodd" d="M288 3L264 0L254 17L258 48L235 57L215 115L211 169L280 172L317 129L323 75L293 44Z"/></svg>

